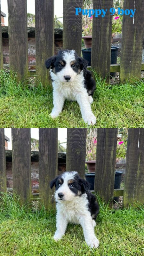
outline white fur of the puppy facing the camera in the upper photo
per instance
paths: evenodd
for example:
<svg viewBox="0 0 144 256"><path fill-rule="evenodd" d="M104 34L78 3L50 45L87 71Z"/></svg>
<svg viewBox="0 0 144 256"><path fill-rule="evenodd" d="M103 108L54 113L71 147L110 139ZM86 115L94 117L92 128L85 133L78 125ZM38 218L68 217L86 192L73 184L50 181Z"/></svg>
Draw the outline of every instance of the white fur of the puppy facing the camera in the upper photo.
<svg viewBox="0 0 144 256"><path fill-rule="evenodd" d="M64 52L63 59L66 61L66 66L60 72L55 74L52 72L52 69L50 70L53 80L53 109L51 116L53 118L59 116L66 99L76 100L80 106L84 122L88 125L94 125L96 123L96 117L93 115L91 109L93 99L92 96L88 95L84 87L83 70L77 74L70 65L71 61L75 60L74 52ZM69 81L66 81L64 76L70 76L71 78Z"/></svg>

